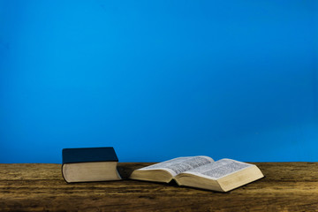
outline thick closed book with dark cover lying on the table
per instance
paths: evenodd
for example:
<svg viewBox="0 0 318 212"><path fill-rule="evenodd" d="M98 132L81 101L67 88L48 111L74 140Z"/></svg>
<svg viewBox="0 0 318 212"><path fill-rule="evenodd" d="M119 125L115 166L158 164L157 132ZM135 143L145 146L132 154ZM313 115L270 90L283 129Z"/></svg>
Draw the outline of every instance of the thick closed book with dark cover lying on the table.
<svg viewBox="0 0 318 212"><path fill-rule="evenodd" d="M114 148L64 148L62 176L67 183L119 180Z"/></svg>

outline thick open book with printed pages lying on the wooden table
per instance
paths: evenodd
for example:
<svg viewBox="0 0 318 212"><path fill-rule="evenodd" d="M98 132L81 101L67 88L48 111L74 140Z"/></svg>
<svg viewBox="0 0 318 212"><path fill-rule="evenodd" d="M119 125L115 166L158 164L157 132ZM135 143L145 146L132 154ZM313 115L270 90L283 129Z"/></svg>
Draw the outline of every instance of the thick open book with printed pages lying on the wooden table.
<svg viewBox="0 0 318 212"><path fill-rule="evenodd" d="M215 162L208 156L189 156L133 170L130 178L165 183L174 179L178 186L228 192L263 177L254 164L231 159Z"/></svg>

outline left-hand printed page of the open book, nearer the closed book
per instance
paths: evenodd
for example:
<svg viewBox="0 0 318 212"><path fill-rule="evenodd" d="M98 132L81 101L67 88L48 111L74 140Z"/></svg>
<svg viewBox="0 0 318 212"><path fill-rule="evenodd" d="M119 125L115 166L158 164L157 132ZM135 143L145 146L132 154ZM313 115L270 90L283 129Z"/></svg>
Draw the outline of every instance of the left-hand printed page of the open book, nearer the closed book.
<svg viewBox="0 0 318 212"><path fill-rule="evenodd" d="M163 163L156 163L140 170L167 170L174 177L186 170L193 170L202 165L213 163L214 160L208 156L178 157Z"/></svg>

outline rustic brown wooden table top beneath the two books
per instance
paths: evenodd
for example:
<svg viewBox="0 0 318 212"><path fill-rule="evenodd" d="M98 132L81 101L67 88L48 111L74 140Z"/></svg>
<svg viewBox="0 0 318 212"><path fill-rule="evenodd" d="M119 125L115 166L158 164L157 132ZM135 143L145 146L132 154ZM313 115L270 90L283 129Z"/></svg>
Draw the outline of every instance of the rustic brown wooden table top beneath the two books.
<svg viewBox="0 0 318 212"><path fill-rule="evenodd" d="M119 163L127 178L152 163ZM61 164L0 164L1 211L318 211L318 163L255 163L264 173L230 193L122 181L66 184Z"/></svg>

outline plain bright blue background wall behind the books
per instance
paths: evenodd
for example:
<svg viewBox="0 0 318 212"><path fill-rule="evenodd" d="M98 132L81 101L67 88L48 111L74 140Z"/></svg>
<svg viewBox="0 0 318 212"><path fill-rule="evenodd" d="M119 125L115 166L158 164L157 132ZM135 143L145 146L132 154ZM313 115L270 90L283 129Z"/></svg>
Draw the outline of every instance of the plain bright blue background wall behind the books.
<svg viewBox="0 0 318 212"><path fill-rule="evenodd" d="M0 0L0 163L318 161L317 4Z"/></svg>

